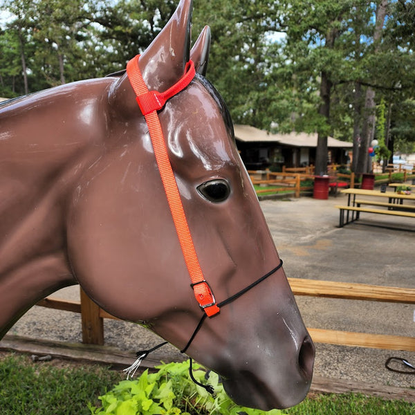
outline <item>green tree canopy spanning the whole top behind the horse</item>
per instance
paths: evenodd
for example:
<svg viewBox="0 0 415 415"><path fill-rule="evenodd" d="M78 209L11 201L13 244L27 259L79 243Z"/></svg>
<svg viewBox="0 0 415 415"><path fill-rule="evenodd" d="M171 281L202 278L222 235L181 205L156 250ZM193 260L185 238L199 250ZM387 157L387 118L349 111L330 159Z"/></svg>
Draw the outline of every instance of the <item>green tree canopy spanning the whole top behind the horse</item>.
<svg viewBox="0 0 415 415"><path fill-rule="evenodd" d="M10 16L0 28L0 96L119 71L176 5L0 0ZM234 122L351 141L385 102L385 144L413 149L414 19L415 4L405 0L194 0L193 31L212 28L208 77Z"/></svg>

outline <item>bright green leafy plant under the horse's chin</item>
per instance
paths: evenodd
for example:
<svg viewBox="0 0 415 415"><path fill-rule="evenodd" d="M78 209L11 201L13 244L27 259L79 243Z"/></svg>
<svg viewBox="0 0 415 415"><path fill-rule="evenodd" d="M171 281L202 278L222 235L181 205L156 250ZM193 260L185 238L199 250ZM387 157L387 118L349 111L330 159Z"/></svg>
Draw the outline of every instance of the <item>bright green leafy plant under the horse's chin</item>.
<svg viewBox="0 0 415 415"><path fill-rule="evenodd" d="M219 376L193 364L194 378L214 387L214 396L196 385L189 376L189 361L145 370L137 380L122 380L99 399L102 407L88 405L92 415L279 415L236 405L225 394Z"/></svg>

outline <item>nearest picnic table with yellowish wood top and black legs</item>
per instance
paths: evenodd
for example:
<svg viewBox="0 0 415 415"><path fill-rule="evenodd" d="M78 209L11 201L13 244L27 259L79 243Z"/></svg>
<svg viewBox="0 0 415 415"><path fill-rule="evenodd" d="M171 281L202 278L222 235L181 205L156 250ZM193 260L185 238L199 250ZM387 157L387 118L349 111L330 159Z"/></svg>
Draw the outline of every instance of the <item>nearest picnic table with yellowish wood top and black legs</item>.
<svg viewBox="0 0 415 415"><path fill-rule="evenodd" d="M343 189L341 192L347 194L348 197L347 206L335 206L335 208L340 209L340 228L347 225L347 223L358 220L362 212L415 218L415 205L410 204L410 201L415 201L415 194L398 194L396 192L379 192L378 190L365 189ZM358 199L356 199L356 196L358 196ZM360 199L361 197L367 197L368 199ZM387 201L380 201L379 198L387 199ZM362 205L376 206L377 208L367 208L362 207Z"/></svg>

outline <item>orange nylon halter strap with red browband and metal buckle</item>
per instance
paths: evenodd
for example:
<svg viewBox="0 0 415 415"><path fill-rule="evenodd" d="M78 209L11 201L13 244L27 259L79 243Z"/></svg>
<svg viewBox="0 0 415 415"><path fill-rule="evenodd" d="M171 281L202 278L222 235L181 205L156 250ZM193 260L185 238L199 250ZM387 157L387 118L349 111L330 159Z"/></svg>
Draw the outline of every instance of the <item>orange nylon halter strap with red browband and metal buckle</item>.
<svg viewBox="0 0 415 415"><path fill-rule="evenodd" d="M172 165L170 164L169 156L167 154L167 147L163 136L163 130L160 125L157 111L164 107L165 102L176 95L176 93L185 89L190 84L195 75L194 63L190 60L185 67L185 74L174 86L167 89L164 93L158 91L149 91L147 85L142 79L140 68L138 67L137 55L131 59L127 64L127 75L134 92L137 95L137 102L140 106L142 114L145 116L151 142L153 144L154 156L156 157L158 170L163 182L167 201L169 203L170 212L172 212L174 226L178 235L178 240L181 245L185 264L192 280L192 288L197 302L206 315L211 317L219 313L219 307L216 305L214 295L210 290L209 284L203 277L203 272L199 264L199 259L196 255L192 235L190 234L189 225L183 209L180 193L174 177Z"/></svg>

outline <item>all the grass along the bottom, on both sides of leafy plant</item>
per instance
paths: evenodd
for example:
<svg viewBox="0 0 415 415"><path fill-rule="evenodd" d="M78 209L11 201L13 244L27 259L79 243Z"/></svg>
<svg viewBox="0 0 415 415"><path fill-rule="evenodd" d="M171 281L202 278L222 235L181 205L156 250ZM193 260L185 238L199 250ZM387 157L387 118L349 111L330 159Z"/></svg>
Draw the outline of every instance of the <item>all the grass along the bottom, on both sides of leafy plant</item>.
<svg viewBox="0 0 415 415"><path fill-rule="evenodd" d="M58 362L58 361L56 361ZM33 363L28 356L0 355L1 415L88 415L124 376L96 365ZM360 394L315 395L282 412L289 415L415 415L414 404Z"/></svg>

